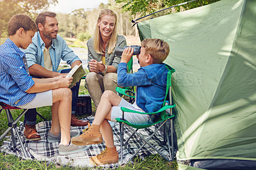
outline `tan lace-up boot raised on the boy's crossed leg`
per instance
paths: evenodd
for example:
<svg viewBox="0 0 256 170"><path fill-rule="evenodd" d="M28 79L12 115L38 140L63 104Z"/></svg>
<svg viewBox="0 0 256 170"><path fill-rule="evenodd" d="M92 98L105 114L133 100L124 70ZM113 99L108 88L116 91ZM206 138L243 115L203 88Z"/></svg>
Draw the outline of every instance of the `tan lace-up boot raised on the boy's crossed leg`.
<svg viewBox="0 0 256 170"><path fill-rule="evenodd" d="M72 137L72 144L76 144L78 146L83 146L87 144L99 144L103 142L102 135L100 133L99 125L90 125L88 123L88 128L83 130L83 134Z"/></svg>

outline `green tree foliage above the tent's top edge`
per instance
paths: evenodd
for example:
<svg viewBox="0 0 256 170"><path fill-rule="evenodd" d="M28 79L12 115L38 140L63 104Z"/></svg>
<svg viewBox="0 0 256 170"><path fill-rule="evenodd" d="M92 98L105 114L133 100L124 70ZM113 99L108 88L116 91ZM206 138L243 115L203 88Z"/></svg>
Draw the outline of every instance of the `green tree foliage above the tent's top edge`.
<svg viewBox="0 0 256 170"><path fill-rule="evenodd" d="M175 8L175 12L180 12L181 10L189 10L192 8L196 8L198 6L204 6L205 4L211 4L220 0L198 0L188 4L184 4L182 6L178 6ZM170 6L188 2L188 0L115 0L116 3L123 4L122 11L130 12L130 15L134 19L135 17L142 17L149 13L154 13L159 10L163 10L164 8L168 8ZM172 11L166 10L162 15L166 13L170 13Z"/></svg>

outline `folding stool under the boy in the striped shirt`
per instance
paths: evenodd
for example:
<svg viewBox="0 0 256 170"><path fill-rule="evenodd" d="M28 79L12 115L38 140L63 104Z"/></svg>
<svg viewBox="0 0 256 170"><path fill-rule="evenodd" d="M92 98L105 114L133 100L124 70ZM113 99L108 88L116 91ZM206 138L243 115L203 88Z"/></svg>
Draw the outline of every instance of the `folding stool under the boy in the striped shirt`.
<svg viewBox="0 0 256 170"><path fill-rule="evenodd" d="M18 137L19 142L20 142L20 146L22 148L22 151L25 155L26 158L28 158L28 153L25 150L23 141L19 135L18 129L17 129L17 122L20 120L20 118L22 118L22 116L28 111L28 109L24 109L24 111L18 116L18 118L14 121L13 117L12 117L12 113L10 111L10 109L20 109L18 107L12 107L10 105L4 104L3 102L0 102L1 107L5 110L6 112L6 117L8 120L8 128L7 130L1 135L0 137L0 141L4 138L4 136L11 130L11 135L12 135L12 142L13 145L16 146L16 142L15 142L15 135ZM0 112L3 110L1 109Z"/></svg>

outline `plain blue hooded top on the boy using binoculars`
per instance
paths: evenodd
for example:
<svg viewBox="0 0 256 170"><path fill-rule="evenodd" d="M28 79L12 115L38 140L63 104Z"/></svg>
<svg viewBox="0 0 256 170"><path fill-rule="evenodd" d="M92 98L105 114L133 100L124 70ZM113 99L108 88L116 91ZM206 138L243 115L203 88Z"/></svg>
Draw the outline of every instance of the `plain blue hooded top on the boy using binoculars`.
<svg viewBox="0 0 256 170"><path fill-rule="evenodd" d="M163 106L168 69L164 64L141 67L138 72L127 73L127 64L120 63L117 70L119 86L137 86L136 104L145 112L156 112Z"/></svg>

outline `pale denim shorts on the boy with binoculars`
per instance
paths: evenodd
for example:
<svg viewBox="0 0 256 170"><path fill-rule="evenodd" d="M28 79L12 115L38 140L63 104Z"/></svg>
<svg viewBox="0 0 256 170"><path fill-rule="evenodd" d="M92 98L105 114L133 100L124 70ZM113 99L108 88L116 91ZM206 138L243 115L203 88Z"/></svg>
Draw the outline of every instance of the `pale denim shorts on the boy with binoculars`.
<svg viewBox="0 0 256 170"><path fill-rule="evenodd" d="M118 106L112 107L111 121L116 122L115 118L122 118L123 111L121 110L121 107L127 107L127 109L131 109L133 111L144 112L140 107L138 107L138 105L136 105L136 102L134 102L134 104L130 104L124 100L124 98L122 98ZM124 120L127 120L134 125L148 125L153 123L153 121L150 120L150 116L148 114L138 114L134 112L125 112Z"/></svg>

